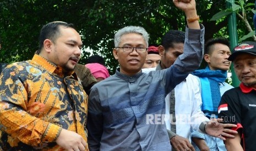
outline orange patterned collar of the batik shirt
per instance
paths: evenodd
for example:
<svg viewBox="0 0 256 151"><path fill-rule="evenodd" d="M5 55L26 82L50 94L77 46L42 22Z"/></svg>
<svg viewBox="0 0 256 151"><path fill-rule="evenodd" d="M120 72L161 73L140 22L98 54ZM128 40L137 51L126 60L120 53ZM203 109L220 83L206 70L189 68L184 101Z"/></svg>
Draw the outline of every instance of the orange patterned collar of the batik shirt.
<svg viewBox="0 0 256 151"><path fill-rule="evenodd" d="M61 66L56 66L54 63L48 61L44 57L35 54L32 58L32 61L39 63L39 65L41 65L43 68L45 68L51 74L56 73L59 76L64 77L63 68ZM67 75L70 76L73 74L74 74L74 71L69 72ZM77 75L74 75L74 77L77 77Z"/></svg>

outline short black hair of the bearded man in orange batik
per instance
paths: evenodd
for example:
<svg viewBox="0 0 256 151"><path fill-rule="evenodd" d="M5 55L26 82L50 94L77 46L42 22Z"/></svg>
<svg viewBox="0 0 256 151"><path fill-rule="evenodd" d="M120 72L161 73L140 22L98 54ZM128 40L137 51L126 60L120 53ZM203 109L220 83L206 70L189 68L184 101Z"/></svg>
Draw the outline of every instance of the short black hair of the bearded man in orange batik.
<svg viewBox="0 0 256 151"><path fill-rule="evenodd" d="M63 21L53 21L43 25L39 36L39 51L37 53L40 53L45 39L50 39L53 43L55 42L56 38L58 38L60 34L59 26L74 28L73 24L68 24Z"/></svg>

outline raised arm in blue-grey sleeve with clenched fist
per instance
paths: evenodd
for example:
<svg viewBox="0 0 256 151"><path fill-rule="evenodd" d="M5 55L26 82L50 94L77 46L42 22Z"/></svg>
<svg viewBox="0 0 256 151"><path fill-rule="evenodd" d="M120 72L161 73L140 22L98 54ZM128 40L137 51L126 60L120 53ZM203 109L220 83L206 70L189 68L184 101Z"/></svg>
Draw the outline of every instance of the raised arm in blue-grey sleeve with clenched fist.
<svg viewBox="0 0 256 151"><path fill-rule="evenodd" d="M197 14L195 8L195 1L173 1L177 8L183 10L186 15L189 17L192 14ZM184 42L184 51L182 55L176 59L175 63L170 67L167 75L171 75L172 79L175 79L173 82L170 78L170 83L168 90L175 88L175 86L181 83L189 73L195 71L200 66L201 61L203 60L204 54L204 26L199 25L197 19L187 21L188 25L186 26L185 33L185 42ZM174 74L173 74L174 73Z"/></svg>

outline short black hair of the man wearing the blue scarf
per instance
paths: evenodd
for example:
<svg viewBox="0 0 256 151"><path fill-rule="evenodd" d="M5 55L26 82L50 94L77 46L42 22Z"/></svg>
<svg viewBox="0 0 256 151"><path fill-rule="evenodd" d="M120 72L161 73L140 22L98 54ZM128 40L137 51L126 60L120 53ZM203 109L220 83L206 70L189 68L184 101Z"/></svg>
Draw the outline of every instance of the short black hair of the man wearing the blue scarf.
<svg viewBox="0 0 256 151"><path fill-rule="evenodd" d="M230 47L230 42L227 38L212 38L205 43L204 54L213 53L214 44L224 44L227 45L228 48Z"/></svg>

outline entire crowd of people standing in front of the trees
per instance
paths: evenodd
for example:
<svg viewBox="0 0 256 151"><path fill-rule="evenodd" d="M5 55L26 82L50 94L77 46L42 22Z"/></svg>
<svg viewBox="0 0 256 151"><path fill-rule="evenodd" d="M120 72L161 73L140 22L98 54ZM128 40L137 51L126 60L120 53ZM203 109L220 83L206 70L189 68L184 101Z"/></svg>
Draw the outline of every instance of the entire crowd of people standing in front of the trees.
<svg viewBox="0 0 256 151"><path fill-rule="evenodd" d="M102 57L78 63L73 24L44 25L31 60L1 65L0 150L254 150L256 43L205 43L195 1L173 3L186 31L150 45L143 27L119 29L113 75Z"/></svg>

